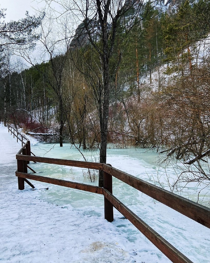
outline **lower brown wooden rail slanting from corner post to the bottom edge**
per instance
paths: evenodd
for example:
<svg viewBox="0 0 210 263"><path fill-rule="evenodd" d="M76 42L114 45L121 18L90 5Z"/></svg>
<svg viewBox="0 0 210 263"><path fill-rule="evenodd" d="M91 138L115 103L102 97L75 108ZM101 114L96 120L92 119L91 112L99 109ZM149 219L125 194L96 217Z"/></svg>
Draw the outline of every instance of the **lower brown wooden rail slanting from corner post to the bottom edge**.
<svg viewBox="0 0 210 263"><path fill-rule="evenodd" d="M167 240L160 236L154 229L141 220L129 208L121 203L108 190L103 189L103 195L113 206L123 214L143 235L145 235L164 255L166 255L174 263L193 263Z"/></svg>

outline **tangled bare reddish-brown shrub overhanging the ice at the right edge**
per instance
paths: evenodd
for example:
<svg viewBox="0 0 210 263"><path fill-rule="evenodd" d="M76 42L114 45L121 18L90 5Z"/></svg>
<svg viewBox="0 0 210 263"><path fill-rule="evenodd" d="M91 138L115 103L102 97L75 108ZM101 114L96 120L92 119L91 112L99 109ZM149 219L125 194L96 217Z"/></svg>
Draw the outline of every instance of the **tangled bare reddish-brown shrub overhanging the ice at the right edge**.
<svg viewBox="0 0 210 263"><path fill-rule="evenodd" d="M157 97L165 144L161 153L166 154L161 162L180 165L176 186L180 182L197 182L204 184L204 188L210 184L209 74L209 62L202 67L194 66L174 81L170 91Z"/></svg>

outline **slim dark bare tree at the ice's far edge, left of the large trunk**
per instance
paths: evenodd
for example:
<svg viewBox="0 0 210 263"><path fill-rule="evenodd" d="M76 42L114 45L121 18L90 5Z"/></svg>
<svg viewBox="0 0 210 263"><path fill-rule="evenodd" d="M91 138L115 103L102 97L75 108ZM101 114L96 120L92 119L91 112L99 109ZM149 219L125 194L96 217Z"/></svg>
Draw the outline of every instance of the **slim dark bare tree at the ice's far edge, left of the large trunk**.
<svg viewBox="0 0 210 263"><path fill-rule="evenodd" d="M41 32L37 38L40 47L39 56L35 57L28 50L23 52L22 56L38 70L45 82L53 89L58 103L59 115L59 141L63 146L63 128L67 119L65 107L64 84L65 84L65 65L67 62L67 51L70 47L72 30L67 26L67 17L54 20L53 14L48 13L40 24ZM54 23L55 22L55 23ZM39 67L40 61L48 62L43 69Z"/></svg>

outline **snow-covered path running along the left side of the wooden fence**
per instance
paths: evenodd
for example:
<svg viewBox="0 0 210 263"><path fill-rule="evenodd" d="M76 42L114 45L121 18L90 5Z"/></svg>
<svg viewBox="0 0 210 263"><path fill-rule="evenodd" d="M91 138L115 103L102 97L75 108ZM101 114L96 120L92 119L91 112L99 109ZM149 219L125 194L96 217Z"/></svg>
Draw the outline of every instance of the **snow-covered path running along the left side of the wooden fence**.
<svg viewBox="0 0 210 263"><path fill-rule="evenodd" d="M15 154L21 145L2 124L0 139L0 261L170 262L143 235L141 244L129 242L103 216L48 204L29 186L18 190Z"/></svg>

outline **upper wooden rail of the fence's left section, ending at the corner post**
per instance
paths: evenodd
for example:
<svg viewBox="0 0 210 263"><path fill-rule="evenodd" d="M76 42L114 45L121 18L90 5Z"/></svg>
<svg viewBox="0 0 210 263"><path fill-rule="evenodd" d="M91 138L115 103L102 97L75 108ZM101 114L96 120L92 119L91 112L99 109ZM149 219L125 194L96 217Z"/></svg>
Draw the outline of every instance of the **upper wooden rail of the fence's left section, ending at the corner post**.
<svg viewBox="0 0 210 263"><path fill-rule="evenodd" d="M103 170L103 165L101 163L91 163L91 162L85 162L85 161L46 158L46 157L38 157L38 156L27 156L27 155L21 155L21 154L17 154L16 159L26 160L26 161L35 161L39 163L59 164L59 165L75 166L75 167L81 167L81 168Z"/></svg>

